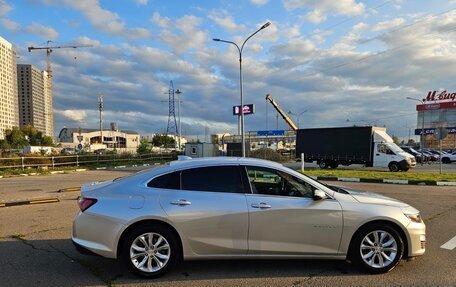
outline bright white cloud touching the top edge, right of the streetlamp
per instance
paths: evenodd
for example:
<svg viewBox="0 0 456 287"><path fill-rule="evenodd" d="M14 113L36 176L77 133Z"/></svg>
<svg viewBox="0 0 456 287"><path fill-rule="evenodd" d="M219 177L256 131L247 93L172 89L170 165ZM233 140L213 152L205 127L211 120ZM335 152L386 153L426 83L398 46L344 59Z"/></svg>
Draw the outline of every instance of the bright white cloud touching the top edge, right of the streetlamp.
<svg viewBox="0 0 456 287"><path fill-rule="evenodd" d="M321 23L328 14L358 16L365 10L363 3L356 3L356 0L284 0L287 10L310 8L306 18L313 23Z"/></svg>

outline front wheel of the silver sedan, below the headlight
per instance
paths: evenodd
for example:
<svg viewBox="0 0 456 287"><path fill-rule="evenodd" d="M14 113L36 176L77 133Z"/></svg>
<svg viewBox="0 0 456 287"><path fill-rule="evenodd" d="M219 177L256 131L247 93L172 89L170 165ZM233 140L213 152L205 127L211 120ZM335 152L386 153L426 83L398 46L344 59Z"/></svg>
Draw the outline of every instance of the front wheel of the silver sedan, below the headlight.
<svg viewBox="0 0 456 287"><path fill-rule="evenodd" d="M394 269L404 254L399 233L387 224L372 224L353 237L350 258L370 273L386 273Z"/></svg>

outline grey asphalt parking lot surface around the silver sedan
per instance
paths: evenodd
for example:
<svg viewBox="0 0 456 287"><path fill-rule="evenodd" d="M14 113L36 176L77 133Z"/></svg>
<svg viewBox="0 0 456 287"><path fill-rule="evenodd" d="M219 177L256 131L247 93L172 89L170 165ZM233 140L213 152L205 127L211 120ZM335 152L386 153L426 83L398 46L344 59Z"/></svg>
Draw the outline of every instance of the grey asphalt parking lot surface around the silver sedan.
<svg viewBox="0 0 456 287"><path fill-rule="evenodd" d="M427 225L427 251L393 272L369 275L344 261L249 260L184 262L155 280L132 275L115 260L79 254L71 225L78 191L59 189L130 171L0 179L0 199L59 198L57 203L0 208L1 286L456 286L456 188L337 182L410 203ZM456 239L454 239L456 240ZM446 244L446 245L444 245ZM446 248L442 248L441 246ZM451 247L453 247L451 249Z"/></svg>

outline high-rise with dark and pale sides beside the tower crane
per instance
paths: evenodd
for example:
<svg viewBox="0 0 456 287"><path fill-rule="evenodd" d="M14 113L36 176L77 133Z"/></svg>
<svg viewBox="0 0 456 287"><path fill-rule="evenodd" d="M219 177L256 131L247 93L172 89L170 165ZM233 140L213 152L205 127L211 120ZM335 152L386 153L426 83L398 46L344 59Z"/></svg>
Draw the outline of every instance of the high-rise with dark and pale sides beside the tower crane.
<svg viewBox="0 0 456 287"><path fill-rule="evenodd" d="M47 73L32 65L17 65L19 124L31 124L44 135L54 137L52 94Z"/></svg>

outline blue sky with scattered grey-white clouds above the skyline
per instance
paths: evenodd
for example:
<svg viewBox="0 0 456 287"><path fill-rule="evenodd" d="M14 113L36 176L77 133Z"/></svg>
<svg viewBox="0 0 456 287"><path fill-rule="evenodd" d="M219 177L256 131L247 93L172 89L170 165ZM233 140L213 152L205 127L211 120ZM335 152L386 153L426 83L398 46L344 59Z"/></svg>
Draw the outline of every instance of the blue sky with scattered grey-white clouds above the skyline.
<svg viewBox="0 0 456 287"><path fill-rule="evenodd" d="M407 137L417 102L405 97L456 91L455 0L0 0L18 63L45 69L45 51L27 47L47 40L93 45L52 53L56 133L97 128L98 95L106 127L164 132L171 80L184 135L236 133L238 52L212 39L241 45L266 22L243 50L244 103L256 106L246 131L277 128L271 94L302 113L301 128L370 124Z"/></svg>

